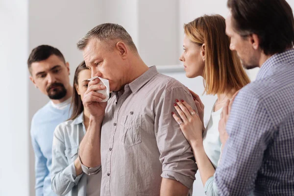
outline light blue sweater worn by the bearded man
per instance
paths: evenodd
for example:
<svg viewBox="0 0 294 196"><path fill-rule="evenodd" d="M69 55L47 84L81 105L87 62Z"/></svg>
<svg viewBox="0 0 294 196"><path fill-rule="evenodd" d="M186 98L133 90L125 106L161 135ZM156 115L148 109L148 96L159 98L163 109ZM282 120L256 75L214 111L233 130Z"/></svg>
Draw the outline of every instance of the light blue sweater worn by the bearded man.
<svg viewBox="0 0 294 196"><path fill-rule="evenodd" d="M36 196L55 196L51 189L52 141L55 127L69 119L70 104L57 109L49 101L36 112L31 123L31 140L35 152Z"/></svg>

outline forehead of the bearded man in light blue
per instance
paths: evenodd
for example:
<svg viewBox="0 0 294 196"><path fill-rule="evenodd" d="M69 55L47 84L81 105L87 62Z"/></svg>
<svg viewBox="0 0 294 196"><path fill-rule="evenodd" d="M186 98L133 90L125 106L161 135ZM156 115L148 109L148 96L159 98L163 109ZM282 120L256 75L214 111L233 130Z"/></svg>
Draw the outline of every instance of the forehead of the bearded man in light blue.
<svg viewBox="0 0 294 196"><path fill-rule="evenodd" d="M32 74L38 73L38 72L48 72L51 68L53 68L56 65L64 66L63 60L61 60L56 55L49 56L48 59L39 61L39 62L33 62L31 64L31 72Z"/></svg>

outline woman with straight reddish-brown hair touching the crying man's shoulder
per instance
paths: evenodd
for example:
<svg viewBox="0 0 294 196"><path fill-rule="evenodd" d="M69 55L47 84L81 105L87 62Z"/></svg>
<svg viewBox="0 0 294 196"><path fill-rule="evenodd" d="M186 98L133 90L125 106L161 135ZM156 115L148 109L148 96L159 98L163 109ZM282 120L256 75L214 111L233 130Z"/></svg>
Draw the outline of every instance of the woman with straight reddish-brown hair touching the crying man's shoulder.
<svg viewBox="0 0 294 196"><path fill-rule="evenodd" d="M204 15L184 25L184 51L180 60L186 76L202 76L205 93L217 95L210 120L204 128L204 105L193 92L198 114L185 100L175 100L175 121L193 148L194 156L206 195L217 195L214 190L214 172L221 157L218 126L221 111L227 100L250 82L235 51L229 49L230 39L225 34L225 19L220 15ZM204 132L203 132L204 130Z"/></svg>

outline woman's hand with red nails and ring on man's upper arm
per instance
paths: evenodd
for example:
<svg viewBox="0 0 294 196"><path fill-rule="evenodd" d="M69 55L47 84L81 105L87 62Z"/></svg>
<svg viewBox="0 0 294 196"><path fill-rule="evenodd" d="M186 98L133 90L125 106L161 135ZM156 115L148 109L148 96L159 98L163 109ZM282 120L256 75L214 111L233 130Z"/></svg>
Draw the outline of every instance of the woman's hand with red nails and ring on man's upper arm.
<svg viewBox="0 0 294 196"><path fill-rule="evenodd" d="M180 125L180 128L190 145L201 142L203 123L195 110L184 100L175 99L173 104L180 118L172 112L174 120Z"/></svg>

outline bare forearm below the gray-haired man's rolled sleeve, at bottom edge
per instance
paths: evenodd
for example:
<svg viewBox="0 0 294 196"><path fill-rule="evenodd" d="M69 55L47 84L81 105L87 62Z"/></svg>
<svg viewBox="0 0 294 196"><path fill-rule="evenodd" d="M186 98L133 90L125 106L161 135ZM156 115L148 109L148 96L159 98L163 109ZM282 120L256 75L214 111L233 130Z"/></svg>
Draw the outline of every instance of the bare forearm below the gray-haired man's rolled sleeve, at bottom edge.
<svg viewBox="0 0 294 196"><path fill-rule="evenodd" d="M168 179L162 178L160 196L188 196L189 189L182 183Z"/></svg>

